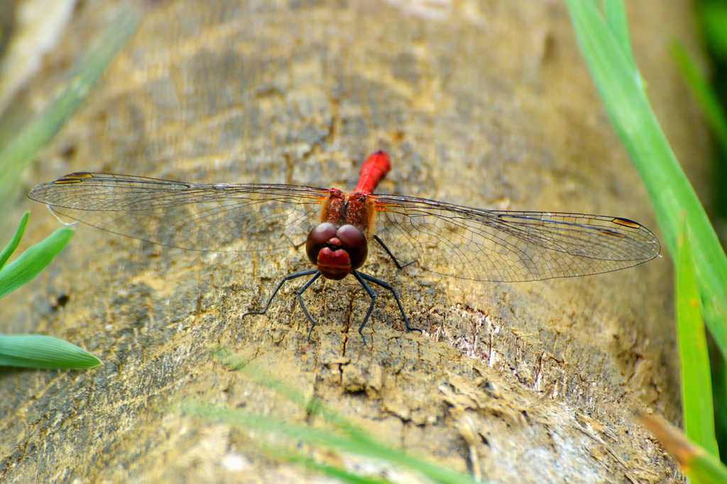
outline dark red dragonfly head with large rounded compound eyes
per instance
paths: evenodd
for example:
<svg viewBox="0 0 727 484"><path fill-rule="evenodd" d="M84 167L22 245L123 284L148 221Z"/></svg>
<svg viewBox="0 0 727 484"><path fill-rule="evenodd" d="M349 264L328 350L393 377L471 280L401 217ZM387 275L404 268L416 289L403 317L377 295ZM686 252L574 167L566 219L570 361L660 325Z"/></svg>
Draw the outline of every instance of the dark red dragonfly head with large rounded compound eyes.
<svg viewBox="0 0 727 484"><path fill-rule="evenodd" d="M319 223L305 241L310 262L327 279L339 280L364 265L369 246L364 233L353 225Z"/></svg>

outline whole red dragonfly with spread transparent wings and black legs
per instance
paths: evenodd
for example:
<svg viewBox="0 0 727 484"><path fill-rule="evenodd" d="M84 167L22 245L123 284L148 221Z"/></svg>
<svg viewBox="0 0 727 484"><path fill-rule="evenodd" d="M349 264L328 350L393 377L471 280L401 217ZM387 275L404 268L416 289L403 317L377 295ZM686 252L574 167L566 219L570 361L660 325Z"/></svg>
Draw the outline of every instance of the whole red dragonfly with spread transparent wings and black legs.
<svg viewBox="0 0 727 484"><path fill-rule="evenodd" d="M311 276L297 291L300 307L310 321L309 338L316 321L308 313L302 293L319 276L338 280L348 274L371 299L358 327L361 337L376 301L367 282L390 291L406 329L421 331L409 323L390 284L358 271L366 261L371 239L398 268L416 262L434 274L494 282L617 271L650 261L661 250L651 231L627 218L484 210L406 195L374 194L390 169L389 156L374 152L361 167L353 192L71 173L36 186L28 197L76 221L169 247L270 252L299 247L305 240L305 252L316 268L285 276L262 311L246 315L268 311L284 282Z"/></svg>

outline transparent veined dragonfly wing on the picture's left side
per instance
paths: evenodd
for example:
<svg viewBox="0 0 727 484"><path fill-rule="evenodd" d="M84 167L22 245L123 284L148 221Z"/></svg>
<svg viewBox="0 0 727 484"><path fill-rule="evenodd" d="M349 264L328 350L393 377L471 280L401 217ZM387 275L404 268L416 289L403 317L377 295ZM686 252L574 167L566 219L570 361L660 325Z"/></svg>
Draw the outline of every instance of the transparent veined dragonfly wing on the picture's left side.
<svg viewBox="0 0 727 484"><path fill-rule="evenodd" d="M28 193L61 216L115 234L223 252L305 242L327 195L310 186L182 183L106 173L71 173Z"/></svg>

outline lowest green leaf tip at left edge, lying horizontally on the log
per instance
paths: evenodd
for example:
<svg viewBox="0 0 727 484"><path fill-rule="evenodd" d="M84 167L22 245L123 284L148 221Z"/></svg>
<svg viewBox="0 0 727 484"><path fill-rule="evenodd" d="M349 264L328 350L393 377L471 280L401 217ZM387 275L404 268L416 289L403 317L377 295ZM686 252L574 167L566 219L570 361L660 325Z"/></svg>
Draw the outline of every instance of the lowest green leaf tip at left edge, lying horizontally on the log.
<svg viewBox="0 0 727 484"><path fill-rule="evenodd" d="M101 361L67 341L44 335L0 335L0 365L89 369Z"/></svg>

